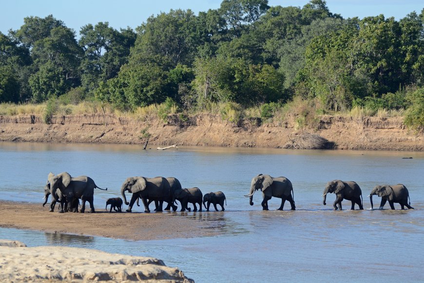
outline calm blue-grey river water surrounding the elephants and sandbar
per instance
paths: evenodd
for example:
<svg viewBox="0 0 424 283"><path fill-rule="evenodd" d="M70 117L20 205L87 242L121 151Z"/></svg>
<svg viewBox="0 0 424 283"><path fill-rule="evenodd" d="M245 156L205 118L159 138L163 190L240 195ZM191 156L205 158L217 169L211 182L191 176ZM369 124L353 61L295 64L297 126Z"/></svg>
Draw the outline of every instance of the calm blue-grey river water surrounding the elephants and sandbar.
<svg viewBox="0 0 424 283"><path fill-rule="evenodd" d="M1 200L41 205L48 173L67 171L108 187L107 192L96 190L96 209L119 196L122 182L131 176L173 176L183 187L197 186L203 193L221 190L228 203L225 212L181 216L219 227L218 237L124 241L0 228L3 239L156 257L197 282L424 281L424 153L209 147L143 151L138 145L0 142L0 160ZM296 211L262 211L260 193L249 205L243 195L260 173L289 178ZM332 211L333 194L322 205L326 182L334 179L357 182L366 210ZM415 210L367 210L366 196L385 183L405 184ZM270 209L280 202L271 199ZM379 203L374 196L374 206ZM350 202L343 207L350 208Z"/></svg>

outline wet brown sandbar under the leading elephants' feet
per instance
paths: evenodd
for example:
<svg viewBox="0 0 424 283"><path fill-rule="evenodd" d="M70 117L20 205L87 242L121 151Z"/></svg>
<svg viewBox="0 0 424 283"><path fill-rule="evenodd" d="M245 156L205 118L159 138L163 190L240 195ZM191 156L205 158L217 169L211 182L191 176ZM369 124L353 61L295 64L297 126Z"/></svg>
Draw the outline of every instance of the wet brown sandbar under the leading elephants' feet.
<svg viewBox="0 0 424 283"><path fill-rule="evenodd" d="M0 227L126 240L160 240L218 235L201 213L49 212L48 205L0 201ZM134 210L133 210L134 211ZM202 229L209 228L209 229ZM195 231L195 232L193 232Z"/></svg>

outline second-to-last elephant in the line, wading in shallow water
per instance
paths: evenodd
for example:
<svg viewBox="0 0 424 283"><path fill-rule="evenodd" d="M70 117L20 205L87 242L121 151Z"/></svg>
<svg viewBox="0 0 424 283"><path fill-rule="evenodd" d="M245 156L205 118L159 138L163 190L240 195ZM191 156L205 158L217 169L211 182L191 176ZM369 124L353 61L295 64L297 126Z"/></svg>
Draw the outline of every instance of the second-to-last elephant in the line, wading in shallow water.
<svg viewBox="0 0 424 283"><path fill-rule="evenodd" d="M355 203L359 205L359 209L364 209L362 206L362 191L359 185L356 182L343 182L340 180L333 180L327 183L326 188L323 193L323 204L326 205L326 199L328 193L336 194L336 200L333 203L334 210L337 210L337 205L339 209L342 210L342 201L344 199L351 201L352 206L351 210L355 209Z"/></svg>

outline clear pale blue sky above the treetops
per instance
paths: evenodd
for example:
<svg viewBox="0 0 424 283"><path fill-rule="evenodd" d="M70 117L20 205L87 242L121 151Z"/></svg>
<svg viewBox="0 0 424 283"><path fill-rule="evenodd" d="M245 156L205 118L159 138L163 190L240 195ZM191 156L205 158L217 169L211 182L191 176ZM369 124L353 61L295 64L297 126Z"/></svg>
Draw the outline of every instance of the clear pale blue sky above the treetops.
<svg viewBox="0 0 424 283"><path fill-rule="evenodd" d="M303 6L308 0L269 0L271 6ZM73 28L77 34L87 23L109 21L109 25L119 29L130 26L135 28L149 16L170 9L191 9L199 11L218 8L221 0L0 0L0 31L4 34L19 29L23 18L52 14ZM332 13L344 18L376 16L404 18L408 13L420 13L424 8L423 0L327 0Z"/></svg>

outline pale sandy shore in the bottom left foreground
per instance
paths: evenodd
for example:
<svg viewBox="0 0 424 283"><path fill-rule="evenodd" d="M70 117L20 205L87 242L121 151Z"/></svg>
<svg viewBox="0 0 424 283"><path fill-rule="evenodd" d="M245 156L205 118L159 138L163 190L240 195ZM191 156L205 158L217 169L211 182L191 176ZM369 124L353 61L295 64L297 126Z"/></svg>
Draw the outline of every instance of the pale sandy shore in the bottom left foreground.
<svg viewBox="0 0 424 283"><path fill-rule="evenodd" d="M0 240L1 282L181 282L193 280L161 260Z"/></svg>

